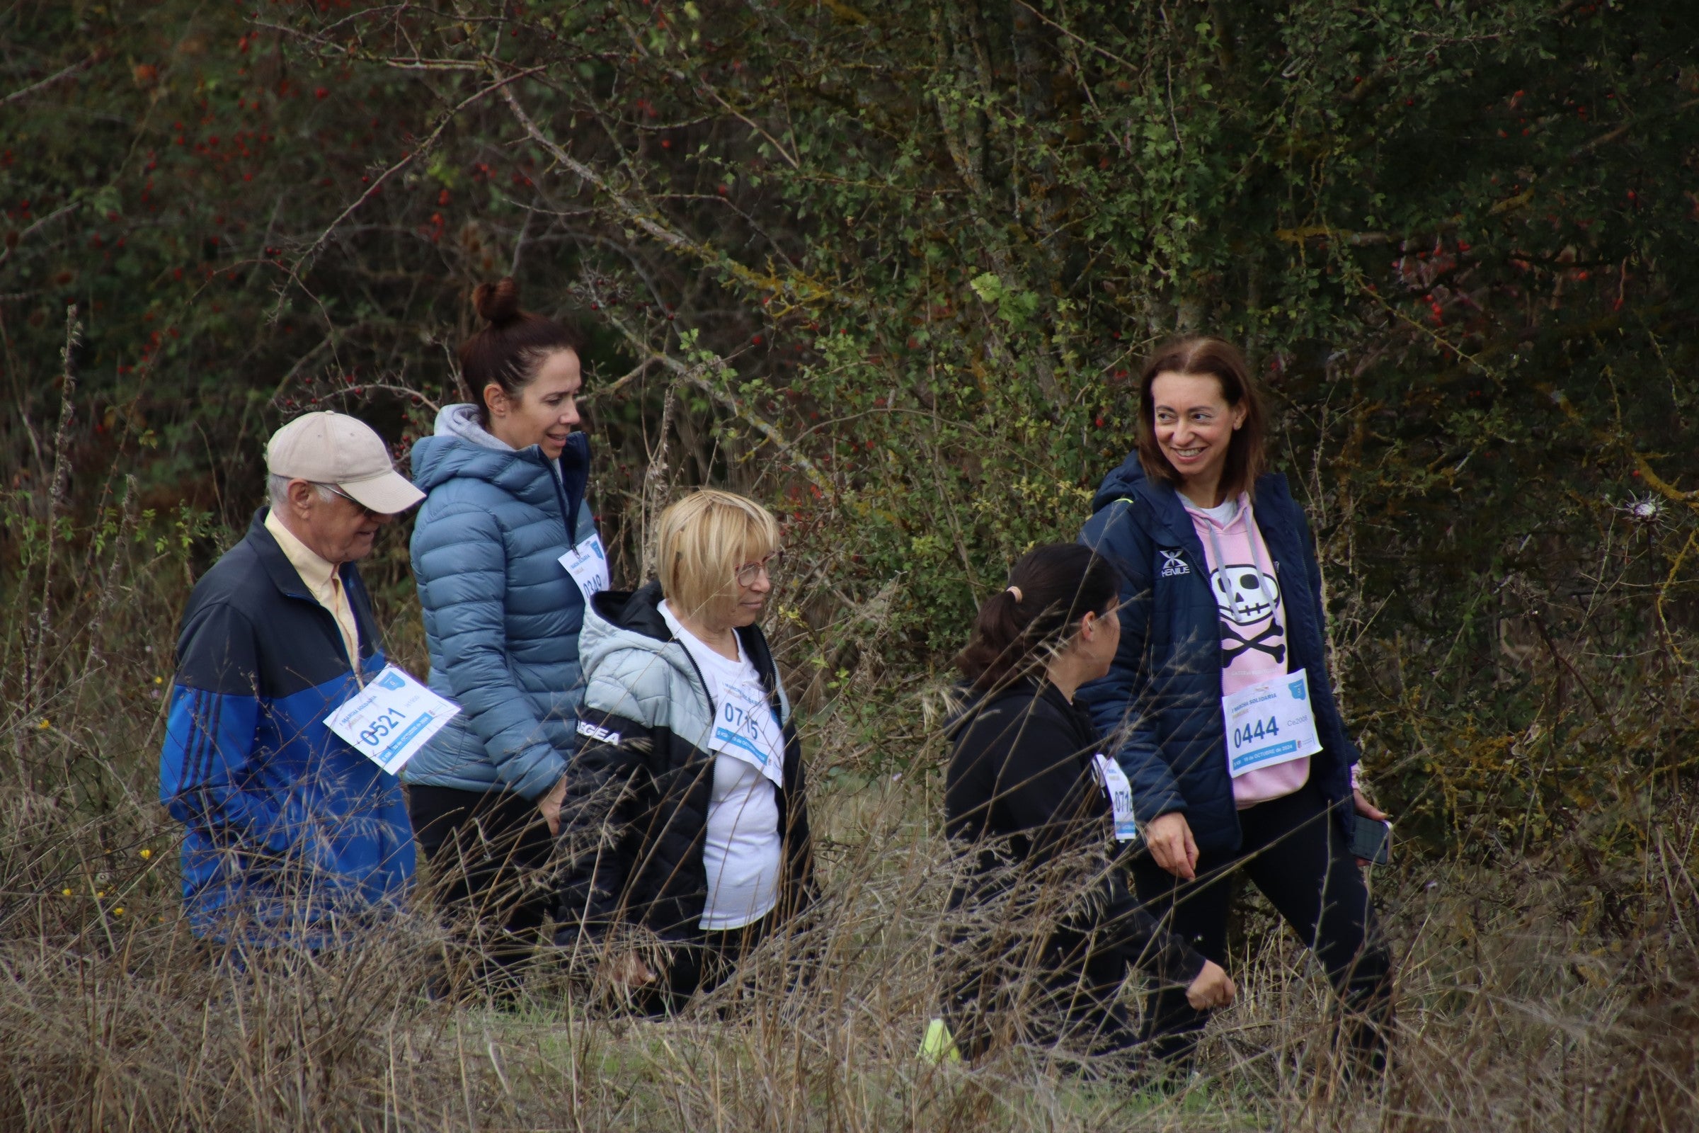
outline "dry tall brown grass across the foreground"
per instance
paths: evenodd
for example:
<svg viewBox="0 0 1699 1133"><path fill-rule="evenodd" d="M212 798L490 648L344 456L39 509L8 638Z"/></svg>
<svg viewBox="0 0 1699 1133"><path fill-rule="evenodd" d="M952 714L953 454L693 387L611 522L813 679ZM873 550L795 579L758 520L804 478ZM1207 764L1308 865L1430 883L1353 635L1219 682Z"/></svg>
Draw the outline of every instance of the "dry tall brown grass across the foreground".
<svg viewBox="0 0 1699 1133"><path fill-rule="evenodd" d="M110 669L107 669L110 676ZM110 702L105 705L110 708ZM129 727L122 727L129 725ZM0 812L5 1130L1663 1130L1692 1123L1699 994L1691 844L1657 843L1636 943L1583 927L1563 877L1408 863L1376 880L1402 958L1385 1084L1346 1084L1332 999L1261 912L1239 1006L1177 1096L1091 1082L1065 1057L916 1058L938 997L948 870L938 785L821 792L827 902L675 1023L586 1011L549 967L518 1009L423 995L438 929L275 970L214 968L178 919L156 730L102 712L8 734L49 788ZM102 742L80 739L97 734ZM829 766L829 729L810 751ZM17 741L27 737L22 744ZM124 753L100 756L93 749ZM99 798L97 805L93 800ZM1672 831L1692 831L1691 814ZM790 984L787 955L816 955Z"/></svg>

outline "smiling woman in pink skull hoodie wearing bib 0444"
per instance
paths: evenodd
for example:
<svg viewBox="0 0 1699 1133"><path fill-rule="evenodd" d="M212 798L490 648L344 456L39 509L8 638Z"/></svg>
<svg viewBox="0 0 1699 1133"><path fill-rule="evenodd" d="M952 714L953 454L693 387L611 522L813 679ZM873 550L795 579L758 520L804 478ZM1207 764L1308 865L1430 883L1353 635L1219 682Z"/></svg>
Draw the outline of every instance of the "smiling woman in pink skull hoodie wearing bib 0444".
<svg viewBox="0 0 1699 1133"><path fill-rule="evenodd" d="M1160 347L1138 413L1138 448L1103 481L1081 532L1126 579L1121 645L1109 674L1079 691L1133 785L1150 846L1132 863L1137 892L1220 963L1242 870L1327 968L1351 1046L1378 1067L1391 961L1349 848L1358 815L1386 815L1356 786L1358 749L1334 703L1310 525L1286 477L1264 472L1262 401L1230 343ZM1288 679L1300 674L1301 703ZM1320 751L1259 736L1230 768L1223 698L1266 681L1293 690ZM1184 1062L1203 1016L1167 989L1145 1026Z"/></svg>

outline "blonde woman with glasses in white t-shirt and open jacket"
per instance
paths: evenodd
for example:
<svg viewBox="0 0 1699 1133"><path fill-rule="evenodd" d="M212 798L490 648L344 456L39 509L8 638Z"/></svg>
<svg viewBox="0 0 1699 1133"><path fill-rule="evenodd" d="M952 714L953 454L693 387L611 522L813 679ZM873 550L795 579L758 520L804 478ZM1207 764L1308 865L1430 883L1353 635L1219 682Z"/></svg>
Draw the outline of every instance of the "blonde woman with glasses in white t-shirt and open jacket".
<svg viewBox="0 0 1699 1133"><path fill-rule="evenodd" d="M802 749L758 625L778 561L766 508L697 491L661 513L658 578L584 615L556 943L651 1012L724 982L810 897Z"/></svg>

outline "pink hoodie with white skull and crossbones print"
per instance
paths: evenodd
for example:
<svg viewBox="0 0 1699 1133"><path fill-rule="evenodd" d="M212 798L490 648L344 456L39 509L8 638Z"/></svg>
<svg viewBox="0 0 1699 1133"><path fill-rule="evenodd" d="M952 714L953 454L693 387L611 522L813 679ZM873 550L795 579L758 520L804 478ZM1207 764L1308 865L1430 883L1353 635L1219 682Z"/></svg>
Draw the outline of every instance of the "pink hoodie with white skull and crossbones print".
<svg viewBox="0 0 1699 1133"><path fill-rule="evenodd" d="M1274 559L1252 521L1250 498L1242 493L1208 511L1184 496L1181 503L1203 544L1210 593L1222 620L1222 695L1284 674L1286 610ZM1233 802L1244 810L1290 795L1308 781L1308 756L1256 768L1233 780Z"/></svg>

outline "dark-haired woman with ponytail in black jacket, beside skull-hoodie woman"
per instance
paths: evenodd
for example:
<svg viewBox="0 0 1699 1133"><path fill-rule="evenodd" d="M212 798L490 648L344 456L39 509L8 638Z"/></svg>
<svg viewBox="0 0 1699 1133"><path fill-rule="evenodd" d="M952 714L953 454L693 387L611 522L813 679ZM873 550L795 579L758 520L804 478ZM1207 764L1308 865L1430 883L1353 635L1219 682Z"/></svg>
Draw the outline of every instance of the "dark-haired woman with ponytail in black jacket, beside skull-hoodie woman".
<svg viewBox="0 0 1699 1133"><path fill-rule="evenodd" d="M980 606L957 661L968 688L948 729L945 814L972 863L950 897L946 1012L968 1057L1019 1040L1125 1050L1128 965L1198 1011L1233 999L1220 965L1162 931L1116 865L1138 841L1132 793L1074 690L1115 657L1118 595L1115 567L1089 549L1038 547Z"/></svg>

